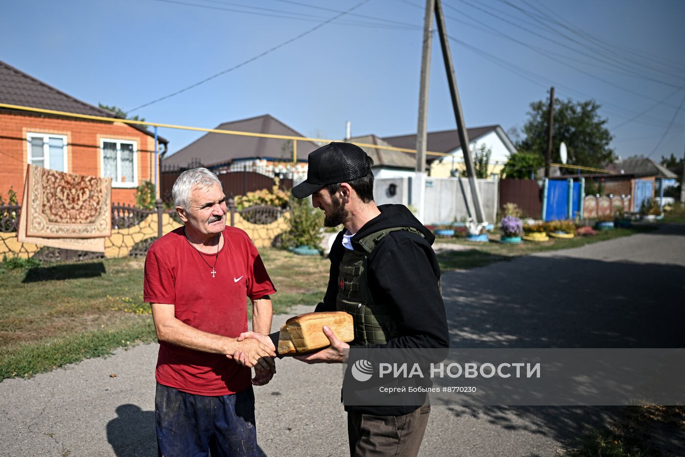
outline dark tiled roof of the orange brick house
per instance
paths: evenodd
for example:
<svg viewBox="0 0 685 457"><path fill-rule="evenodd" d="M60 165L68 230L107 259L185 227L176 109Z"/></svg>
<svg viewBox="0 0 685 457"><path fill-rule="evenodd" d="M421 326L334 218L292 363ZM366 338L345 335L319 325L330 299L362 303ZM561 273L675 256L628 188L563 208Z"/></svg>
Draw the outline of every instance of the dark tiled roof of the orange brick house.
<svg viewBox="0 0 685 457"><path fill-rule="evenodd" d="M67 113L116 118L114 113L82 102L2 60L0 60L0 102L30 106L31 108L66 111ZM129 125L145 134L154 136L153 132L142 126ZM160 136L158 136L158 140L160 143L169 143L168 140Z"/></svg>

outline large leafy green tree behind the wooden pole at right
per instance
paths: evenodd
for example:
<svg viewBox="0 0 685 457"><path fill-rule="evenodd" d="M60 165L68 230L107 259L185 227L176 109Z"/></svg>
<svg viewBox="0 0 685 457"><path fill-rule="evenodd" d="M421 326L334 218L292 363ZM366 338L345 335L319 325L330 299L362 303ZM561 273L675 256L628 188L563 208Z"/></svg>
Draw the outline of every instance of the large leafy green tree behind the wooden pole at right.
<svg viewBox="0 0 685 457"><path fill-rule="evenodd" d="M612 134L604 126L608 119L599 116L595 100L573 102L554 100L554 127L552 132L552 162L560 162L559 148L563 141L571 165L601 168L616 160L614 150L609 148ZM549 102L539 100L530 104L528 119L523 126L525 138L516 142L519 150L545 157L547 154L547 126Z"/></svg>

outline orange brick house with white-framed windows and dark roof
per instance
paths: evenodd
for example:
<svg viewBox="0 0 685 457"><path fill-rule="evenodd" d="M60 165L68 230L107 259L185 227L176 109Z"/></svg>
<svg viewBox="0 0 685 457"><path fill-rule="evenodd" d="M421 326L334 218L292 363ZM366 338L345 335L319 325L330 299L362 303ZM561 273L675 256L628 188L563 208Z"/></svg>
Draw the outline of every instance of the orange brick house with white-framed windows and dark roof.
<svg viewBox="0 0 685 457"><path fill-rule="evenodd" d="M2 61L0 103L113 118L106 122L0 108L0 196L5 202L10 187L22 201L29 163L112 178L112 202L124 204L135 203L138 185L155 182L154 133L142 126L117 122L108 110L71 97ZM160 153L166 152L169 142L162 137L158 141Z"/></svg>

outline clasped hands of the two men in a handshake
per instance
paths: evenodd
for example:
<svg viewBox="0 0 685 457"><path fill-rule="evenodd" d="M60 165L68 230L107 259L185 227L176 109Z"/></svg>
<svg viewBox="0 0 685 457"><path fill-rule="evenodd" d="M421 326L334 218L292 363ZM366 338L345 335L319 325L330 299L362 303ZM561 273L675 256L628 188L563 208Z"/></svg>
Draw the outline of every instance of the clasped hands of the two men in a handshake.
<svg viewBox="0 0 685 457"><path fill-rule="evenodd" d="M254 386L263 386L271 381L276 373L275 356L276 348L271 338L253 331L240 333L226 354L236 363L255 369L255 377L252 378Z"/></svg>

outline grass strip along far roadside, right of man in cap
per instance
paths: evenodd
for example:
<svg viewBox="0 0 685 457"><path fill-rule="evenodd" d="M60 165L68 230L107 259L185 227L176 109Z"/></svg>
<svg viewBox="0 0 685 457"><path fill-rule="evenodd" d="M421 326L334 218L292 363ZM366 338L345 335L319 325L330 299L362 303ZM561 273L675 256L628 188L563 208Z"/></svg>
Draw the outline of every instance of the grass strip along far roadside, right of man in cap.
<svg viewBox="0 0 685 457"><path fill-rule="evenodd" d="M438 262L442 270L468 270L489 265L498 261L510 261L522 255L540 253L546 250L577 248L586 244L597 243L644 233L656 229L656 226L639 226L631 229L614 229L597 231L597 235L574 237L572 239L550 238L548 242L523 242L521 244L501 244L494 240L489 243L467 242L464 238L438 238L436 242L458 244L468 247L466 250L443 250L438 253ZM494 235L493 238L496 238Z"/></svg>

